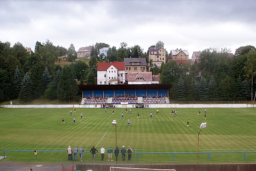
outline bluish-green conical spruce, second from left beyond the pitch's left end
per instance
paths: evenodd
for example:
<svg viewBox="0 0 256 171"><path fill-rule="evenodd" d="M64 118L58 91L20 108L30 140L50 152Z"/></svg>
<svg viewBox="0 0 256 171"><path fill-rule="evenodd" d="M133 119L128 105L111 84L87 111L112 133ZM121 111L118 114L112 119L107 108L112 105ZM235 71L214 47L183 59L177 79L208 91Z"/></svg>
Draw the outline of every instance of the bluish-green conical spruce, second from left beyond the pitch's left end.
<svg viewBox="0 0 256 171"><path fill-rule="evenodd" d="M29 77L29 73L27 72L24 75L24 78L21 83L21 90L20 90L20 95L19 95L19 100L31 100L32 98L32 88L31 88L31 80Z"/></svg>

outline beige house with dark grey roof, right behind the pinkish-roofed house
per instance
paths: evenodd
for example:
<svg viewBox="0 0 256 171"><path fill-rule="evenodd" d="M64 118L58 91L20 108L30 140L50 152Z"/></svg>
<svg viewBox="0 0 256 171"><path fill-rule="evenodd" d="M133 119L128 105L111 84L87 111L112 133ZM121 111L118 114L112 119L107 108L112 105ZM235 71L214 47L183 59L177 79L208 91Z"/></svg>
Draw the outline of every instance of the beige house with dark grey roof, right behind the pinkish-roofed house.
<svg viewBox="0 0 256 171"><path fill-rule="evenodd" d="M147 62L146 58L131 58L125 57L125 72L138 72L138 71L147 71Z"/></svg>

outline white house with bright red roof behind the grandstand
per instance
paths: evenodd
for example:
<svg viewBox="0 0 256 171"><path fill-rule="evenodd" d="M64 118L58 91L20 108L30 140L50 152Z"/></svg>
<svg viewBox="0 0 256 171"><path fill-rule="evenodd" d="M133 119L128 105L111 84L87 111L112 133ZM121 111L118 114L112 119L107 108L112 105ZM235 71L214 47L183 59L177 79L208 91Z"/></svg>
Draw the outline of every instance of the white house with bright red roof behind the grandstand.
<svg viewBox="0 0 256 171"><path fill-rule="evenodd" d="M97 84L125 83L125 63L109 62L98 63Z"/></svg>

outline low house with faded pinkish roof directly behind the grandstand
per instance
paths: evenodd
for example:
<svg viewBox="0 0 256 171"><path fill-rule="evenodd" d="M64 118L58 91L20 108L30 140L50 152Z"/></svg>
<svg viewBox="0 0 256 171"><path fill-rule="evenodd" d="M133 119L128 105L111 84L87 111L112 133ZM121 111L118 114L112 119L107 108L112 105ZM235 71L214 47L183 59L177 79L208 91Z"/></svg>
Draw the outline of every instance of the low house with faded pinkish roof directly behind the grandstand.
<svg viewBox="0 0 256 171"><path fill-rule="evenodd" d="M152 72L128 72L125 76L128 84L159 84L159 75Z"/></svg>

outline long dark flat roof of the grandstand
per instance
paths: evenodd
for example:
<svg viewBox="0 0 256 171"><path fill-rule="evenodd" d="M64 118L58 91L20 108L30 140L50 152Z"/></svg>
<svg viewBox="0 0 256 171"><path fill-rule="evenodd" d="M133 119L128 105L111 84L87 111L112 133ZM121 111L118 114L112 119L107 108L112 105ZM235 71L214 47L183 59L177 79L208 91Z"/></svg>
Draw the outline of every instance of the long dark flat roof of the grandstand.
<svg viewBox="0 0 256 171"><path fill-rule="evenodd" d="M134 89L170 89L171 84L111 84L78 85L83 90L134 90Z"/></svg>

